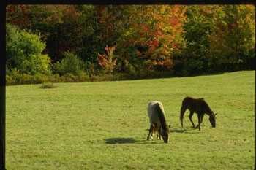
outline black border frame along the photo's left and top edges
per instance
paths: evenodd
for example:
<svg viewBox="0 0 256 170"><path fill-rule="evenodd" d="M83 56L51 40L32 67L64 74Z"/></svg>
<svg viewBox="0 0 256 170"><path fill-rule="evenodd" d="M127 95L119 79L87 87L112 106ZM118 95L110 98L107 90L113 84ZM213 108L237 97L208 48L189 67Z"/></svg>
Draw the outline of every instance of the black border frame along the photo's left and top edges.
<svg viewBox="0 0 256 170"><path fill-rule="evenodd" d="M0 3L0 170L6 170L6 7L8 4L182 4L182 5L206 5L206 4L252 4L256 8L253 0L1 0ZM256 97L256 95L255 95ZM256 125L256 120L255 120ZM256 145L255 145L256 147ZM255 158L256 160L256 158ZM256 166L256 165L255 165Z"/></svg>

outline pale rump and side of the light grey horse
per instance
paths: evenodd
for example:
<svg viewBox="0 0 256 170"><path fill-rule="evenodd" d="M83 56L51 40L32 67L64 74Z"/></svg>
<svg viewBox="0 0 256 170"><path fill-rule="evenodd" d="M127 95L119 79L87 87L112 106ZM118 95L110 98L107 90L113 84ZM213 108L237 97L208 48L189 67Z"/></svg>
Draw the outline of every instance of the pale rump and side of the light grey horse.
<svg viewBox="0 0 256 170"><path fill-rule="evenodd" d="M150 101L148 103L148 117L151 124L159 123L159 109L161 109L163 113L165 112L161 101Z"/></svg>

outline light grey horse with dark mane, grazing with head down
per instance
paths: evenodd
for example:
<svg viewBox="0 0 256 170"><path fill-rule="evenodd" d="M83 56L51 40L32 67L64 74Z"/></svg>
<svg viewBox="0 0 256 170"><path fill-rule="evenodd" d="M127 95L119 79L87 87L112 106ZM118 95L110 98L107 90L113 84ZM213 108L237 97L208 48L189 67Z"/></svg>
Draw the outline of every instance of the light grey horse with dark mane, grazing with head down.
<svg viewBox="0 0 256 170"><path fill-rule="evenodd" d="M159 134L159 139L161 139L162 136L164 142L167 143L169 128L167 127L165 120L164 107L162 106L162 103L160 101L151 101L148 103L148 117L150 122L150 128L147 139L153 139L153 132L157 131L157 133Z"/></svg>

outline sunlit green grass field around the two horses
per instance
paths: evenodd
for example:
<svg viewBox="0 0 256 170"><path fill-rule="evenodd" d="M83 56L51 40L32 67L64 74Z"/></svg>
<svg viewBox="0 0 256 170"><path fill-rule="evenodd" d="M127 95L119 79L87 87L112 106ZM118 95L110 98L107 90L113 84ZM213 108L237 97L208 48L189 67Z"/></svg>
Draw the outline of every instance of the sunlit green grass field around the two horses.
<svg viewBox="0 0 256 170"><path fill-rule="evenodd" d="M7 86L7 170L254 169L255 71L120 82ZM192 129L181 101L217 115ZM162 101L169 143L146 141L148 101ZM193 117L197 125L197 115Z"/></svg>

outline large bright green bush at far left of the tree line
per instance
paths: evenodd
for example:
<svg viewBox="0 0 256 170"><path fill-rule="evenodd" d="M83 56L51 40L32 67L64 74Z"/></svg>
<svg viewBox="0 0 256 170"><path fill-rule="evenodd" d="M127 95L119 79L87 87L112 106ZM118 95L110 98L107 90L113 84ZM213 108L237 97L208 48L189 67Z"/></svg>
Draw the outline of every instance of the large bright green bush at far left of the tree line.
<svg viewBox="0 0 256 170"><path fill-rule="evenodd" d="M49 74L50 58L43 55L45 43L40 36L7 24L7 66L23 74Z"/></svg>

